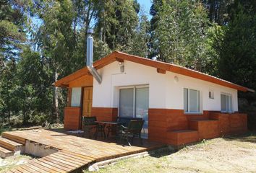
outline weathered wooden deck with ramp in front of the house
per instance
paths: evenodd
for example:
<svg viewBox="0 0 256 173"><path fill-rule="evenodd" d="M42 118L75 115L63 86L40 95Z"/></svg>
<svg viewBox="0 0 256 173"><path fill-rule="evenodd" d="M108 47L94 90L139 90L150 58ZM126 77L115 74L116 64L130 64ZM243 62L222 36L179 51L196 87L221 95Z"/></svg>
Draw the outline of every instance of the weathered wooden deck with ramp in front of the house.
<svg viewBox="0 0 256 173"><path fill-rule="evenodd" d="M33 159L9 172L74 172L97 161L114 159L163 146L147 140L143 140L143 145L135 141L134 146L123 146L113 139L100 138L100 141L96 141L72 135L63 129L4 132L2 136L23 144L25 141L33 141L58 149L58 152L54 154Z"/></svg>

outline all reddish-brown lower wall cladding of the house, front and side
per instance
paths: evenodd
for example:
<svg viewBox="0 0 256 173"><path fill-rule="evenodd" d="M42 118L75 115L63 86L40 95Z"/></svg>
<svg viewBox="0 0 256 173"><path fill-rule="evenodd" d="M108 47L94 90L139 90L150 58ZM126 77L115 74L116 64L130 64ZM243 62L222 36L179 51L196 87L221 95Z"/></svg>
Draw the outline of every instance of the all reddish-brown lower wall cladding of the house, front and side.
<svg viewBox="0 0 256 173"><path fill-rule="evenodd" d="M66 107L64 128L81 128L80 107ZM93 107L92 116L97 120L116 121L116 107ZM247 131L247 115L203 111L201 115L187 115L184 110L148 110L148 139L173 146L182 146L202 139L217 138Z"/></svg>

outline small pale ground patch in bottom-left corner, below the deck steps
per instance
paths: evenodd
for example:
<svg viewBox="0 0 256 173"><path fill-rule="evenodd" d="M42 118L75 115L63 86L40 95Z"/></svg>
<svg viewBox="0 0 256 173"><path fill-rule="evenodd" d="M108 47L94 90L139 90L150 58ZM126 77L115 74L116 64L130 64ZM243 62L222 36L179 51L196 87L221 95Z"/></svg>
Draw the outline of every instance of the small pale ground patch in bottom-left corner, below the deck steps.
<svg viewBox="0 0 256 173"><path fill-rule="evenodd" d="M6 159L0 158L0 173L7 172L9 169L12 169L17 165L25 164L30 159L33 159L33 158L27 155L10 156Z"/></svg>

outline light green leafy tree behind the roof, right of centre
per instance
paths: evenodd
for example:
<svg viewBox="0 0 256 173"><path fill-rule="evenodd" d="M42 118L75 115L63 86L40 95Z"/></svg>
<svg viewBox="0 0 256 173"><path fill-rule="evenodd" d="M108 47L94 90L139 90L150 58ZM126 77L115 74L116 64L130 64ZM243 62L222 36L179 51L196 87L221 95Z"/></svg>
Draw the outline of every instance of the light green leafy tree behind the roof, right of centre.
<svg viewBox="0 0 256 173"><path fill-rule="evenodd" d="M200 1L169 0L153 5L153 55L203 71L208 19Z"/></svg>

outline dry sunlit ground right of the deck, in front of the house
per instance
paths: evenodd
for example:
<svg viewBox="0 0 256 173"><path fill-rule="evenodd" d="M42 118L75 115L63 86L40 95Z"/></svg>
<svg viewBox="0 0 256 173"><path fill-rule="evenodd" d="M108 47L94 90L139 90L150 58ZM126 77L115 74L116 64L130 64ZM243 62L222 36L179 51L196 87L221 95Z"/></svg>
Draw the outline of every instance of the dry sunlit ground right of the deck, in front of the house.
<svg viewBox="0 0 256 173"><path fill-rule="evenodd" d="M202 141L173 153L127 159L108 165L99 172L255 173L256 133Z"/></svg>

